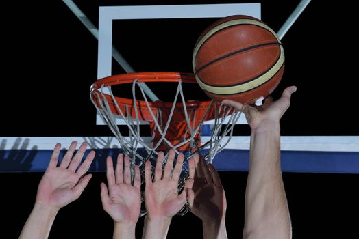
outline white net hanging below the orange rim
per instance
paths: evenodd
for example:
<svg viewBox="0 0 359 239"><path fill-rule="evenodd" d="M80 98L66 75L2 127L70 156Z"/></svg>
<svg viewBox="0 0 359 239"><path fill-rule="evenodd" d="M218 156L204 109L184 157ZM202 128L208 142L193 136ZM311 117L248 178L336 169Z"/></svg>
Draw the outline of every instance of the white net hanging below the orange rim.
<svg viewBox="0 0 359 239"><path fill-rule="evenodd" d="M140 91L140 94L143 96L143 101L136 99L136 90ZM108 92L108 93L105 93ZM107 96L107 97L106 97ZM176 154L182 152L181 147L188 145L186 147L186 152L184 153L184 166L182 167L182 174L180 177L180 182L178 185L178 190L182 191L186 179L188 178L188 167L186 162L198 152L203 156L208 163L212 163L214 156L221 152L225 145L230 142L232 137L234 125L240 117L240 112L234 111L232 107L225 106L224 104L219 104L213 100L208 104L207 109L204 109L201 119L196 119L199 114L196 113L198 109L196 107L186 107L186 100L184 98L183 89L182 89L182 80L178 80L177 90L175 92L175 98L171 107L166 109L166 112L163 112L163 109L153 109L143 87L141 86L138 79L134 79L132 82L132 96L133 102L132 105L125 104L119 105L119 102L116 101L111 86L106 86L105 84L101 85L99 89L93 90L90 93L90 98L92 103L95 105L99 115L104 122L109 126L110 130L114 133L114 136L119 141L123 154L129 156L132 166L139 165L140 168L144 165L147 160L151 160L152 169L156 165L156 159L158 155L158 150L165 148L165 158L163 164L166 163L166 158L169 149L175 150ZM148 142L144 137L140 135L140 117L141 112L139 107L141 103L147 106L148 113L151 115L151 120L153 121L153 132L152 141ZM182 104L178 104L182 103ZM174 124L173 115L175 111L178 111L178 105L183 107L182 114L184 115L184 135L180 141L173 143L171 139L167 139L166 135L171 124ZM130 109L131 108L131 109ZM134 113L132 111L134 110ZM206 142L201 142L195 140L195 137L200 136L201 127L205 119L208 117L208 114L214 111L214 124L211 125L210 138ZM115 113L114 113L115 112ZM166 117L163 115L166 114ZM116 124L116 118L120 116L125 124L128 126L127 137L124 136L125 132L121 132L119 126ZM195 123L196 122L196 123ZM155 140L155 135L158 135ZM228 136L228 137L225 137ZM144 171L141 170L141 174L144 174ZM132 178L134 176L134 167L132 167ZM188 209L186 207L182 208L179 214L186 214ZM145 212L142 212L145 214Z"/></svg>

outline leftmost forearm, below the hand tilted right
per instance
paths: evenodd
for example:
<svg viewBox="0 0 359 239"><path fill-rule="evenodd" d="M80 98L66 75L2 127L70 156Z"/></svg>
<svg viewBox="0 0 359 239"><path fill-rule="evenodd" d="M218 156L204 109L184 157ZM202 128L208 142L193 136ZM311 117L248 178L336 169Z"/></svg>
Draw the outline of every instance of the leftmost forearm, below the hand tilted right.
<svg viewBox="0 0 359 239"><path fill-rule="evenodd" d="M19 239L48 238L56 214L58 214L58 208L53 208L44 203L35 203Z"/></svg>

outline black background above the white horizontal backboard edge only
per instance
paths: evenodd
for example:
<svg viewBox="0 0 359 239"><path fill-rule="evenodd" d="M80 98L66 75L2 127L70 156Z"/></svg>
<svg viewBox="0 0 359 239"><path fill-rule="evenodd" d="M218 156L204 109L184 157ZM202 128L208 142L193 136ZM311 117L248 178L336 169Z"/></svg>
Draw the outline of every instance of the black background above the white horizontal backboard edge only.
<svg viewBox="0 0 359 239"><path fill-rule="evenodd" d="M216 3L75 2L95 25L99 5ZM262 1L262 20L277 31L297 3ZM18 20L1 16L1 123L6 127L0 136L112 135L106 126L96 126L88 95L97 79L97 40L62 1L6 4L4 9ZM286 69L273 98L290 85L297 85L298 91L282 118L282 135L359 135L358 116L353 113L358 109L355 14L350 1L312 1L284 36ZM114 45L138 72L191 72L195 42L214 20L114 20ZM123 72L115 61L112 65L114 74ZM171 95L162 92L167 98ZM21 124L14 124L16 119L22 119ZM249 135L247 126L237 128L236 135Z"/></svg>

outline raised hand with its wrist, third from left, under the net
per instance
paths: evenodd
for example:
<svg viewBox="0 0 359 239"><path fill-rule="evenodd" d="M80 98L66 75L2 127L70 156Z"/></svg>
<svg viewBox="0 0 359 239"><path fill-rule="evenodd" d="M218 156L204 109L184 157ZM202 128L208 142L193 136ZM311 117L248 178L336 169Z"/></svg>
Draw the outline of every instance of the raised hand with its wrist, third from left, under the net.
<svg viewBox="0 0 359 239"><path fill-rule="evenodd" d="M147 216L143 229L143 238L166 238L172 216L174 216L186 203L186 195L190 193L195 175L195 162L188 160L189 178L184 191L178 194L178 180L180 179L183 154L178 154L175 168L173 160L175 151L170 150L169 156L162 170L163 152L158 153L154 178L151 178L151 162L145 164L145 206ZM192 192L193 193L193 192Z"/></svg>

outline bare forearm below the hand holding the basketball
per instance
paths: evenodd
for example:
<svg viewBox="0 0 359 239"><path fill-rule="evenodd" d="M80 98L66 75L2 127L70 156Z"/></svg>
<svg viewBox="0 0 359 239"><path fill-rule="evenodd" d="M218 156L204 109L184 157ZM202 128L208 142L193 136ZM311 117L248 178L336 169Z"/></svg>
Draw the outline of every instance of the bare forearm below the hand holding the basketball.
<svg viewBox="0 0 359 239"><path fill-rule="evenodd" d="M290 238L290 217L280 168L280 125L252 130L245 196L244 238Z"/></svg>

